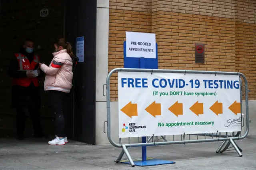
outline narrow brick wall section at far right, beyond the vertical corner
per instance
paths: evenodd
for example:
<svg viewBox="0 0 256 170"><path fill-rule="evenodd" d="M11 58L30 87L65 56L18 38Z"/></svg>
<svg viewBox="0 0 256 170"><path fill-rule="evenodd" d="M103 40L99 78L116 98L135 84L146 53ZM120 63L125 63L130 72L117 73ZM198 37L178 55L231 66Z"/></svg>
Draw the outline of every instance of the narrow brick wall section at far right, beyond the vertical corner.
<svg viewBox="0 0 256 170"><path fill-rule="evenodd" d="M236 0L235 10L236 71L248 79L249 100L256 100L256 1Z"/></svg>

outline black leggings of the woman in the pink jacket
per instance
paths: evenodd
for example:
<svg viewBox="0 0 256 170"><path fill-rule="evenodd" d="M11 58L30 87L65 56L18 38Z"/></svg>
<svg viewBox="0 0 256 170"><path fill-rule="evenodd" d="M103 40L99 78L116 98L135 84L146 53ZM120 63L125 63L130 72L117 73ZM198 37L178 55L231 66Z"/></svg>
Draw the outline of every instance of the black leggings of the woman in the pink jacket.
<svg viewBox="0 0 256 170"><path fill-rule="evenodd" d="M50 103L52 106L52 111L55 115L55 128L56 135L59 137L66 136L65 132L65 117L64 117L64 106L68 93L62 91L50 90Z"/></svg>

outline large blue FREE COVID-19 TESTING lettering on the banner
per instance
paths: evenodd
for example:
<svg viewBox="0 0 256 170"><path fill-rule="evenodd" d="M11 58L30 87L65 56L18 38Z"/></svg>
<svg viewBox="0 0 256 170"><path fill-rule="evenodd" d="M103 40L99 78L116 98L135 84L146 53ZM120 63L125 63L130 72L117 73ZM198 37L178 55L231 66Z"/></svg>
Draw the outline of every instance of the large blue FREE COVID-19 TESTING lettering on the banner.
<svg viewBox="0 0 256 170"><path fill-rule="evenodd" d="M128 88L148 88L148 85L154 88L196 88L203 87L205 89L239 89L239 81L233 80L198 80L191 79L186 82L184 79L153 79L148 82L147 78L121 78L121 87Z"/></svg>

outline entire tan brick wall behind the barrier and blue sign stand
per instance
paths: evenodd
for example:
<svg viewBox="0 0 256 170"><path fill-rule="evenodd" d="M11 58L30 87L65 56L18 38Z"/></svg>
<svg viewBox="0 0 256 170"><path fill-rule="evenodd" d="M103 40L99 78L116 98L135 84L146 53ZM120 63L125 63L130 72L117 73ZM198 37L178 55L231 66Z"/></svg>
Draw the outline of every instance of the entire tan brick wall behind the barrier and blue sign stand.
<svg viewBox="0 0 256 170"><path fill-rule="evenodd" d="M249 99L256 99L256 1L110 0L109 17L109 70L123 67L125 31L152 32L160 69L240 71L249 81ZM205 44L204 64L194 61L194 43ZM118 101L115 76L111 101Z"/></svg>

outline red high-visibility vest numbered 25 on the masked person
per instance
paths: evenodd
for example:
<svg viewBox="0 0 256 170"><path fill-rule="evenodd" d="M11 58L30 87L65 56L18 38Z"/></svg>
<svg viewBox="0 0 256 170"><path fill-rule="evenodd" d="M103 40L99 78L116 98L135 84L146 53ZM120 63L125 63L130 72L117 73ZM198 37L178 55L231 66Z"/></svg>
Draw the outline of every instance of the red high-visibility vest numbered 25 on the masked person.
<svg viewBox="0 0 256 170"><path fill-rule="evenodd" d="M19 71L34 70L36 67L36 64L39 63L40 61L40 57L37 55L34 55L34 60L31 63L28 60L28 58L23 54L16 53L15 56L18 59ZM34 77L34 78L23 77L23 78L13 79L13 85L20 85L23 87L28 87L31 84L31 82L33 82L35 87L39 87L38 77Z"/></svg>

